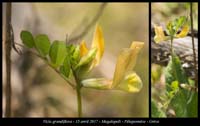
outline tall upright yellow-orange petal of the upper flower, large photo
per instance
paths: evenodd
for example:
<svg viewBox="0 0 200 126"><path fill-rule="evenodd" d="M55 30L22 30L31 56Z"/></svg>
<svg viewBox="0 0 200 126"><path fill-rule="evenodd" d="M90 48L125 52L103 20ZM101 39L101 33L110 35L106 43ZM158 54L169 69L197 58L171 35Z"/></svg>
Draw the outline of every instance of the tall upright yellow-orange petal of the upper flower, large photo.
<svg viewBox="0 0 200 126"><path fill-rule="evenodd" d="M104 53L104 37L100 26L96 26L94 37L92 41L92 48L97 48L97 55L95 57L93 66L99 64Z"/></svg>

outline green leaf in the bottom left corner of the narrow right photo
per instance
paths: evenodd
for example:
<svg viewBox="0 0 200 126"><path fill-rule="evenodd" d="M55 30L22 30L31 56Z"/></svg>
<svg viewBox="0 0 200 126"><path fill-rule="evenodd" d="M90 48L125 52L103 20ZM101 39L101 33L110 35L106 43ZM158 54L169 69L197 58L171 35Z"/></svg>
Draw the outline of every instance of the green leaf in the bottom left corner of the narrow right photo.
<svg viewBox="0 0 200 126"><path fill-rule="evenodd" d="M158 108L154 100L151 100L151 113L153 118L166 117L165 112Z"/></svg>

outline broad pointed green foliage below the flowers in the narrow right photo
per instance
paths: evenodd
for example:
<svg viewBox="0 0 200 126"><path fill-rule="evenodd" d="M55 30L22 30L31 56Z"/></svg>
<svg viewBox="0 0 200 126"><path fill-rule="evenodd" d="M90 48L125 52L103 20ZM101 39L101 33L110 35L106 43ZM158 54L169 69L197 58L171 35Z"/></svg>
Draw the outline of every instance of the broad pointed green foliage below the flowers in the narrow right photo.
<svg viewBox="0 0 200 126"><path fill-rule="evenodd" d="M170 59L165 70L167 95L170 98L169 107L173 108L177 117L197 116L196 92L179 88L180 84L189 84L181 62L175 54Z"/></svg>

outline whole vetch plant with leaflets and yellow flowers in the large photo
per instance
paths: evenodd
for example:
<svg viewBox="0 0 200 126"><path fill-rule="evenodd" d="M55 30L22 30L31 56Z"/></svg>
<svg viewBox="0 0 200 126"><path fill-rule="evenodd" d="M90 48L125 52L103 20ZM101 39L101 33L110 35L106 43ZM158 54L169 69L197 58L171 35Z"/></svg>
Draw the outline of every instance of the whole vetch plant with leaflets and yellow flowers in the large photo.
<svg viewBox="0 0 200 126"><path fill-rule="evenodd" d="M132 42L130 48L122 50L118 56L113 80L109 80L87 78L88 72L100 63L104 53L103 32L98 25L90 49L87 48L84 40L80 45L65 44L59 40L51 43L47 35L39 34L33 37L29 31L22 31L20 37L26 47L35 49L38 57L76 89L78 117L82 117L81 89L83 87L101 90L116 89L131 93L139 92L142 88L142 81L133 68L137 55L144 45L143 42Z"/></svg>

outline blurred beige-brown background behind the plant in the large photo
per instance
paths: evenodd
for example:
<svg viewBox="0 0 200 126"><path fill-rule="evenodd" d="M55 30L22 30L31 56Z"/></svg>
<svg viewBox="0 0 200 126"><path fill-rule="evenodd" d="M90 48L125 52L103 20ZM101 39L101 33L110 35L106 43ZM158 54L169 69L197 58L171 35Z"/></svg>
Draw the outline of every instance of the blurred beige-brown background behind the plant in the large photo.
<svg viewBox="0 0 200 126"><path fill-rule="evenodd" d="M15 41L20 32L47 34L51 41L79 34L98 13L102 3L13 3L12 25ZM134 70L143 81L139 93L83 89L84 117L148 117L149 115L149 12L148 3L107 3L97 23L105 39L101 63L89 77L112 78L117 55L132 41L145 42ZM3 4L3 28L5 4ZM95 25L83 37L90 47ZM3 38L5 32L3 31ZM3 39L4 40L4 39ZM81 40L80 40L81 41ZM12 50L12 116L76 117L76 91L38 57L21 48ZM5 53L3 53L5 54ZM5 56L3 56L5 58ZM5 59L3 59L5 68ZM5 113L5 69L3 69L3 115Z"/></svg>

